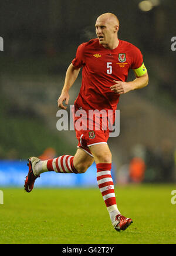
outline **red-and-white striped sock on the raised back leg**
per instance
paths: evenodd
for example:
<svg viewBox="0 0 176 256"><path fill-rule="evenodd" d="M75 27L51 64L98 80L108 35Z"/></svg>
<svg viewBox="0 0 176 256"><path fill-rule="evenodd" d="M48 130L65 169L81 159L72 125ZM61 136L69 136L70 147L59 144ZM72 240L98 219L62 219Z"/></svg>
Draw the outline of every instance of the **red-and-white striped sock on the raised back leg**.
<svg viewBox="0 0 176 256"><path fill-rule="evenodd" d="M77 173L73 165L74 156L63 155L54 159L39 161L36 163L35 172L40 175L43 172Z"/></svg>

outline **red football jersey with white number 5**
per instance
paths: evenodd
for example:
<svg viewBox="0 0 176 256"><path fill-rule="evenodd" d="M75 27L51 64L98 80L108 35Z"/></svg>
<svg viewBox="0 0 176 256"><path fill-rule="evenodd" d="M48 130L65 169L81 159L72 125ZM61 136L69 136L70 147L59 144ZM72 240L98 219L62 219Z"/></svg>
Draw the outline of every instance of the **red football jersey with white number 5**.
<svg viewBox="0 0 176 256"><path fill-rule="evenodd" d="M76 109L116 110L119 94L110 86L115 84L113 80L126 81L130 68L141 67L143 55L130 42L119 40L117 48L108 50L96 38L79 45L72 64L83 68Z"/></svg>

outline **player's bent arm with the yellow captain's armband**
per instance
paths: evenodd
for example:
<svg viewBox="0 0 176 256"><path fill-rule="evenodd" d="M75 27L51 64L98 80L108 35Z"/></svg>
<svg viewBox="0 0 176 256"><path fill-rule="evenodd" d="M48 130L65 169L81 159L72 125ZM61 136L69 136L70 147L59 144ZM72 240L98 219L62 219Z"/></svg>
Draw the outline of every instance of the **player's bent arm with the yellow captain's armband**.
<svg viewBox="0 0 176 256"><path fill-rule="evenodd" d="M114 91L118 94L128 93L131 90L137 90L144 88L148 84L148 73L144 64L141 65L140 68L134 70L134 74L136 75L136 79L130 82L122 82L114 80L113 86L110 87L111 91Z"/></svg>

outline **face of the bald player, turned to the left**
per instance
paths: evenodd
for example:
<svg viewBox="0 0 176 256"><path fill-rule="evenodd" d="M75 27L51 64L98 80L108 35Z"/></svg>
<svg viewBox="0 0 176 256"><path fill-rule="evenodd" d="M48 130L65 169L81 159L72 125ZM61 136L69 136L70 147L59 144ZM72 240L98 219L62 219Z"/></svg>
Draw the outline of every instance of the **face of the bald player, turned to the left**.
<svg viewBox="0 0 176 256"><path fill-rule="evenodd" d="M97 19L96 24L96 34L99 38L100 44L109 45L111 41L114 40L114 26L113 24L107 22L104 19Z"/></svg>

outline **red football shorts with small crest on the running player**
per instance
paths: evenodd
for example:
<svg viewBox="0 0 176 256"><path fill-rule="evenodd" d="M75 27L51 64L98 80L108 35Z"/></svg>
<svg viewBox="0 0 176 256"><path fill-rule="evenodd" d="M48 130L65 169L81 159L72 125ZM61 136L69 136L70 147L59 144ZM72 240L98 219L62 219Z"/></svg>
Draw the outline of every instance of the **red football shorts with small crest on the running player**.
<svg viewBox="0 0 176 256"><path fill-rule="evenodd" d="M80 110L81 111L81 110ZM83 149L90 156L93 156L89 147L106 143L109 139L109 128L105 126L103 128L104 119L101 117L98 120L91 120L89 122L89 115L76 116L75 111L72 109L73 120L75 121L75 132L78 140L77 147ZM90 129L91 128L91 129Z"/></svg>

